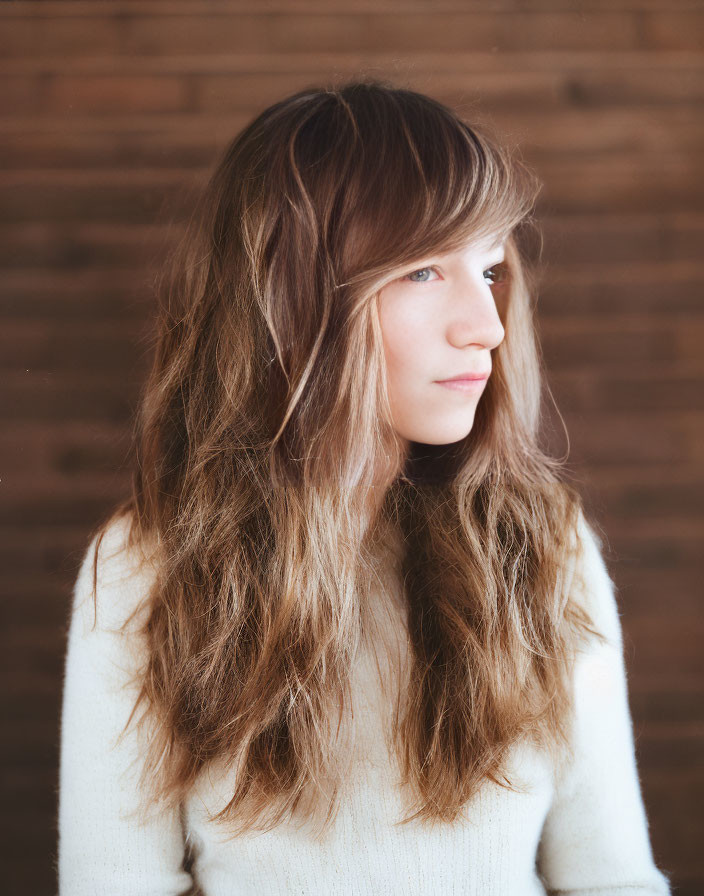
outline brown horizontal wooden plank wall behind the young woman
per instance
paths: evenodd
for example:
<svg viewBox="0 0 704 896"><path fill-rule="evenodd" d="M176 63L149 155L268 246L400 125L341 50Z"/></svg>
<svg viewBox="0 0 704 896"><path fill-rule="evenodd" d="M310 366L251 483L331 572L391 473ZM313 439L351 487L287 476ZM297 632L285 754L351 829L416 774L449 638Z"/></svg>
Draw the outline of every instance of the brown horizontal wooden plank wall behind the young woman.
<svg viewBox="0 0 704 896"><path fill-rule="evenodd" d="M690 0L0 5L8 896L55 888L70 592L127 490L153 274L248 120L362 73L481 114L545 183L539 327L608 539L653 848L704 892L703 20Z"/></svg>

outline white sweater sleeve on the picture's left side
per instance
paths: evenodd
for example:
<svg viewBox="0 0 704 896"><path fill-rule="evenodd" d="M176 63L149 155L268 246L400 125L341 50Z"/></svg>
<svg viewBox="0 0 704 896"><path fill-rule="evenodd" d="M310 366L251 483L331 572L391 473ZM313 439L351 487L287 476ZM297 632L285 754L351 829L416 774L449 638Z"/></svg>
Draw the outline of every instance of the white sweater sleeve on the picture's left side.
<svg viewBox="0 0 704 896"><path fill-rule="evenodd" d="M143 756L138 713L119 739L138 693L139 645L136 635L118 629L147 586L121 550L125 527L113 523L100 546L95 627L95 539L73 591L60 735L59 896L176 896L193 885L183 870L180 814L135 814Z"/></svg>

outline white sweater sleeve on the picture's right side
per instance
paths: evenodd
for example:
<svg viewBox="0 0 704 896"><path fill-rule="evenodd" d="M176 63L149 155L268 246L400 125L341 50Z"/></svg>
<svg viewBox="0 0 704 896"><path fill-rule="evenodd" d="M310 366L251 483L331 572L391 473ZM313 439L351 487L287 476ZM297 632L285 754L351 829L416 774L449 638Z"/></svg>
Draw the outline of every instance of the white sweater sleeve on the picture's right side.
<svg viewBox="0 0 704 896"><path fill-rule="evenodd" d="M608 644L593 641L575 663L571 749L556 779L538 870L550 896L669 896L641 794L614 583L583 515L578 535L582 575L573 582Z"/></svg>

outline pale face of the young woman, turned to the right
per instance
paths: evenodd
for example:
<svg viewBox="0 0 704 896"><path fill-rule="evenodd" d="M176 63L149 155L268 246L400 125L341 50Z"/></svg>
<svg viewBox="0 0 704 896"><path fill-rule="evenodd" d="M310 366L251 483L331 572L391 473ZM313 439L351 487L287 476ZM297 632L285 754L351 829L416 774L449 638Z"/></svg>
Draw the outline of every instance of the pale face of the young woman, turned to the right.
<svg viewBox="0 0 704 896"><path fill-rule="evenodd" d="M493 243L418 259L379 293L392 423L406 441L446 445L472 429L486 380L439 381L490 373L504 338L492 294L504 245Z"/></svg>

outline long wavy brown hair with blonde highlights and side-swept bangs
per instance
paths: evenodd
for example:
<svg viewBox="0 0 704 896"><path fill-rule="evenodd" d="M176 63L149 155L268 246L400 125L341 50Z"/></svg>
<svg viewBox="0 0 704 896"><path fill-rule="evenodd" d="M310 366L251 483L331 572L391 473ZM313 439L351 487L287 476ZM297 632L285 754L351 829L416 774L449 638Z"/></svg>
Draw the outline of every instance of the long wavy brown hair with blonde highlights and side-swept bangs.
<svg viewBox="0 0 704 896"><path fill-rule="evenodd" d="M379 557L409 651L399 823L452 821L486 779L513 788L521 738L567 745L575 653L599 632L565 585L580 495L538 444L540 189L488 128L378 79L289 96L225 150L157 280L132 493L96 533L94 589L118 519L153 571L127 723L141 705L152 805L180 804L217 760L237 765L215 816L235 833L321 805L333 819ZM505 337L473 428L404 447L379 291L487 235L506 240Z"/></svg>

